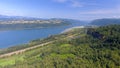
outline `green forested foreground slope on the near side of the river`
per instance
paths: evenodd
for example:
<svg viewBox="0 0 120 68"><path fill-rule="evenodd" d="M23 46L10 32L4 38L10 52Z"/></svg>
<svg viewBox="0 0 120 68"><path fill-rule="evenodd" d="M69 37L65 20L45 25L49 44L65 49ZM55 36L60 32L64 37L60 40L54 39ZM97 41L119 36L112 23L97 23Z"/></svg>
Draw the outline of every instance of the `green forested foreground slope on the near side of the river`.
<svg viewBox="0 0 120 68"><path fill-rule="evenodd" d="M119 68L120 25L76 28L11 47L1 54L52 43L0 58L0 68Z"/></svg>

